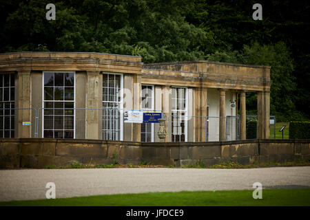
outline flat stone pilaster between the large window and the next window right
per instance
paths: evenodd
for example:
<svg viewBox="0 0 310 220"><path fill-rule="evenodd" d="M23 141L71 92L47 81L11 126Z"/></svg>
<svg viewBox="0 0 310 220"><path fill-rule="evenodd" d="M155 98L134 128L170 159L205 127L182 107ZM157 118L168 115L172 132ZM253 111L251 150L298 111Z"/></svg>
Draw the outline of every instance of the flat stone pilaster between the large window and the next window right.
<svg viewBox="0 0 310 220"><path fill-rule="evenodd" d="M99 73L87 71L86 108L99 108ZM86 139L99 139L99 110L85 111Z"/></svg>

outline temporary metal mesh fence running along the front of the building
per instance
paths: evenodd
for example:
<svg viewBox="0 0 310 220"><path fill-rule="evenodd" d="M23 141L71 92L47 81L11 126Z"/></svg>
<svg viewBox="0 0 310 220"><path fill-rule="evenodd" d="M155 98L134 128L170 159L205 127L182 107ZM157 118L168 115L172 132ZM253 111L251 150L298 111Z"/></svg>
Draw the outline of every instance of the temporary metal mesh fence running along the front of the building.
<svg viewBox="0 0 310 220"><path fill-rule="evenodd" d="M132 135L131 133L121 132L124 131L125 127L129 128L133 124L124 122L124 113L130 110L133 109L117 107L0 108L0 137L17 136L15 134L17 126L30 126L30 137L71 137L83 139L92 136L92 132L94 134L98 132L98 135L94 135L94 137L101 140L123 140L123 137L126 135L128 137ZM165 115L163 111L161 113L163 118L166 119L167 142L209 142L219 140L221 117L178 115L174 112ZM246 115L246 118L247 133L253 134L253 137L247 136L247 138L256 138L258 132L257 115ZM276 117L271 115L270 120L270 138L276 138ZM251 126L248 124L249 121L256 123L252 123L255 125ZM227 115L225 117L225 125L226 140L239 140L239 115ZM39 130L41 131L40 133ZM28 133L27 129L26 133ZM157 131L153 130L152 135L156 134Z"/></svg>

